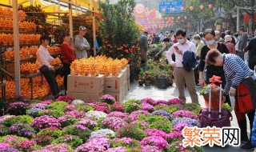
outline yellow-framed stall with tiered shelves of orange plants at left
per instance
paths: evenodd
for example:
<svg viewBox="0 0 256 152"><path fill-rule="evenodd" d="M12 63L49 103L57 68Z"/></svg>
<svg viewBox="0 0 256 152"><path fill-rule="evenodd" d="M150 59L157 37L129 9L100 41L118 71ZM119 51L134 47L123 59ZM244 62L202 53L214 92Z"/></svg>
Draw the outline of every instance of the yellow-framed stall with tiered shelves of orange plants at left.
<svg viewBox="0 0 256 152"><path fill-rule="evenodd" d="M95 14L98 14L98 5L94 1L1 1L0 47L3 54L0 56L3 66L1 73L10 76L1 81L4 82L1 85L2 88L6 89L1 91L2 94L6 92L7 98L14 98L18 94L28 98L46 97L49 94L49 86L34 63L40 43L39 38L42 34L51 35L52 44L48 50L56 58L53 66L61 71L59 37L56 35L57 38L54 38L54 34L57 33L55 31L62 27L61 15L69 14L68 25L70 35L73 37L72 16L85 14L88 11L92 12L90 16L92 16L91 23L94 28L91 34L95 39ZM57 76L60 86L63 83L62 79L61 75Z"/></svg>

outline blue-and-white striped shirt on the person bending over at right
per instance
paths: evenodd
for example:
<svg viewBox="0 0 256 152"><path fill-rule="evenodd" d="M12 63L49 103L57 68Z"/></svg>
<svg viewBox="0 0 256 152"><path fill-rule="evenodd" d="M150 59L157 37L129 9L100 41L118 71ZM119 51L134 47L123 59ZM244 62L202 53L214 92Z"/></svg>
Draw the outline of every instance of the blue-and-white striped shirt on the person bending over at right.
<svg viewBox="0 0 256 152"><path fill-rule="evenodd" d="M224 95L229 94L230 87L234 89L238 87L243 78L252 76L256 80L256 75L253 70L250 70L240 57L235 54L224 54L224 66L223 70L226 77L226 86Z"/></svg>

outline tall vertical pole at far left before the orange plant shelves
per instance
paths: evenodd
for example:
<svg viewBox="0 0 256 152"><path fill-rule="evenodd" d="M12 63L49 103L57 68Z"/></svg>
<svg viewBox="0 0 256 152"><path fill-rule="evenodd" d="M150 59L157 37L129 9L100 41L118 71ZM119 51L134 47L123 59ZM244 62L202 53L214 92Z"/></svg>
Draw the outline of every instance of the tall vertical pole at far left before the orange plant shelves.
<svg viewBox="0 0 256 152"><path fill-rule="evenodd" d="M18 1L13 0L13 26L14 26L14 72L15 72L15 94L21 92L21 74L19 58L19 31L18 31Z"/></svg>

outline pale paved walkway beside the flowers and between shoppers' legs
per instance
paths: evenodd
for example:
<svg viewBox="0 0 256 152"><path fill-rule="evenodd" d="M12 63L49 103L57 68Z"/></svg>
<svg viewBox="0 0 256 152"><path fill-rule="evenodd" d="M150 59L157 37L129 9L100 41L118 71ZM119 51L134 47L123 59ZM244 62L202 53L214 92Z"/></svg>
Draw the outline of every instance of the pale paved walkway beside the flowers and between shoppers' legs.
<svg viewBox="0 0 256 152"><path fill-rule="evenodd" d="M201 88L197 88L198 94ZM154 98L154 99L170 99L170 98L177 98L178 97L178 90L176 89L175 85L172 87L169 87L167 90L160 90L154 86L150 87L144 87L144 86L138 86L138 82L134 82L130 85L130 91L126 95L125 100L128 98ZM191 102L190 95L188 91L186 90L186 102ZM202 105L202 107L205 107L204 99L202 96L199 96L199 103ZM233 121L231 122L231 126L238 126L238 122L236 121L236 117L234 115L234 111L232 112L233 115ZM249 126L249 125L248 125ZM248 130L250 131L250 130ZM228 146L224 149L218 148L218 147L205 147L206 152L238 152L240 151L238 147L232 147Z"/></svg>

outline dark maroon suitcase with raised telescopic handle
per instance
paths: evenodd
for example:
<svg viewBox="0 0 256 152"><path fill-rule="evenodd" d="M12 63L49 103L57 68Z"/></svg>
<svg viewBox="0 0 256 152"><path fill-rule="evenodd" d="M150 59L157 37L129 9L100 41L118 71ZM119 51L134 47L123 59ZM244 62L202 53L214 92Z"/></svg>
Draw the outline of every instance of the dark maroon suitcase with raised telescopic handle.
<svg viewBox="0 0 256 152"><path fill-rule="evenodd" d="M222 90L220 90L222 91ZM209 105L211 106L211 87L210 87L210 94L209 94ZM218 110L211 110L209 108L203 108L199 112L199 122L201 127L206 126L216 126L216 127L223 127L223 126L230 126L230 120L232 120L232 114L229 110L222 110L222 94L220 92L219 95L219 108Z"/></svg>

